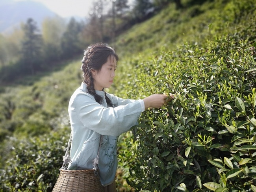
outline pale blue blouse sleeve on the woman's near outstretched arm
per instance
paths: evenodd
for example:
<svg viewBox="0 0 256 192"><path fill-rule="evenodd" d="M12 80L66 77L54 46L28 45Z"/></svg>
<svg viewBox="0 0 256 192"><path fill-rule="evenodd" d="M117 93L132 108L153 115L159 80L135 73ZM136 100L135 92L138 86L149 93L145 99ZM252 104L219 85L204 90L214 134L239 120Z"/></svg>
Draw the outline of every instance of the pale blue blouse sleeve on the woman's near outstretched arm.
<svg viewBox="0 0 256 192"><path fill-rule="evenodd" d="M90 94L79 93L73 99L69 110L75 111L84 127L101 135L119 136L136 125L141 115L141 103L131 101L120 100L119 104L125 105L106 108L97 103Z"/></svg>

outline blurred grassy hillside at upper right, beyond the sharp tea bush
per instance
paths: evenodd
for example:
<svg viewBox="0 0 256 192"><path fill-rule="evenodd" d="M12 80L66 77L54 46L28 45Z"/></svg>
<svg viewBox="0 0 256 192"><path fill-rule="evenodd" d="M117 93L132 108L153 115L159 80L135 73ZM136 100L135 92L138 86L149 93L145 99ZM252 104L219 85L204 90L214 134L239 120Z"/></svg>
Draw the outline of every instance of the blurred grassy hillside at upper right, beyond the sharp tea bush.
<svg viewBox="0 0 256 192"><path fill-rule="evenodd" d="M155 17L136 24L115 43L121 58L117 71L120 74L116 77L119 85L114 85L118 90L113 91L119 93L123 84L131 82L130 72L126 76L128 70L137 73L134 66L143 61L155 62L153 58L162 50L173 51L183 44L207 46L217 37L235 35L238 31L243 39L255 39L256 1L246 2L206 1L191 6L189 0L184 0L184 9L176 10L174 4L170 4Z"/></svg>

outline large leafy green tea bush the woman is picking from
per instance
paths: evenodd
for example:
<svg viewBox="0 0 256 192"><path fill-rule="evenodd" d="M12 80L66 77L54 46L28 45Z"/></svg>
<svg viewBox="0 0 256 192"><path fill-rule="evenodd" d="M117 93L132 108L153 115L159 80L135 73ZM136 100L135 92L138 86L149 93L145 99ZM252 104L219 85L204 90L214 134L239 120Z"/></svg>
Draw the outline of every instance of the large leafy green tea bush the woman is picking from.
<svg viewBox="0 0 256 192"><path fill-rule="evenodd" d="M132 155L124 154L132 187L256 191L256 53L251 43L227 36L206 48L187 44L163 50L155 63L141 63L143 72L133 82L138 91L158 89L175 98L162 109L145 111L133 129ZM140 87L142 79L150 88Z"/></svg>

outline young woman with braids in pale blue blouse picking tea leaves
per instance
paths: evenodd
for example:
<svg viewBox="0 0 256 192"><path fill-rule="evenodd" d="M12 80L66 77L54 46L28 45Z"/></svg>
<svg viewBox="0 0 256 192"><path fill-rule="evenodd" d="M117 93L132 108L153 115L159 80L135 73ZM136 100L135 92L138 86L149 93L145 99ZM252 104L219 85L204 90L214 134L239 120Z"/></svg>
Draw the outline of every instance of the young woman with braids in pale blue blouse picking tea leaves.
<svg viewBox="0 0 256 192"><path fill-rule="evenodd" d="M68 169L92 169L101 138L98 167L100 181L108 192L116 191L117 137L136 125L143 111L160 108L167 102L167 95L163 94L130 100L106 93L104 88L113 83L117 61L117 54L108 45L89 46L82 59L82 85L69 102L72 163Z"/></svg>

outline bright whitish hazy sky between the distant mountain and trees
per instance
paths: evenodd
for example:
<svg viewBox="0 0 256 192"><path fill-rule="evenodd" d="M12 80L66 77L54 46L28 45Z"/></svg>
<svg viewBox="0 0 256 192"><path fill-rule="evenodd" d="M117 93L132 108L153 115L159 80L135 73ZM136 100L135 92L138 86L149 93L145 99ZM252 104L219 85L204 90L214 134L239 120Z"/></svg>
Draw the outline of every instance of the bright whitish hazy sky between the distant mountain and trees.
<svg viewBox="0 0 256 192"><path fill-rule="evenodd" d="M22 0L15 0L22 1ZM24 1L24 0L23 0ZM88 15L93 0L32 0L41 2L48 9L54 11L61 17L79 16L85 17Z"/></svg>

